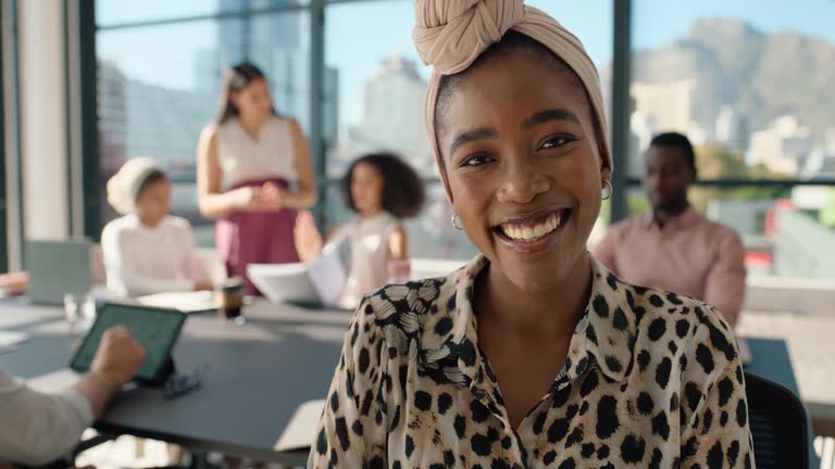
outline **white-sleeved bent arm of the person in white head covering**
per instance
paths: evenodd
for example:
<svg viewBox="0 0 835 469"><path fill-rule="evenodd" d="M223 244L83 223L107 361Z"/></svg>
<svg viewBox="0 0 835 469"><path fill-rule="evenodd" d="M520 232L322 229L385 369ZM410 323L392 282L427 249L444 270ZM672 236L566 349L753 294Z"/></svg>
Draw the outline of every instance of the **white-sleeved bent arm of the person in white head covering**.
<svg viewBox="0 0 835 469"><path fill-rule="evenodd" d="M190 278L157 278L136 271L134 263L129 259L141 255L141 246L126 243L125 237L121 234L107 228L101 234L101 251L104 256L108 283L116 290L115 293L123 296L139 296L195 289L195 281Z"/></svg>

